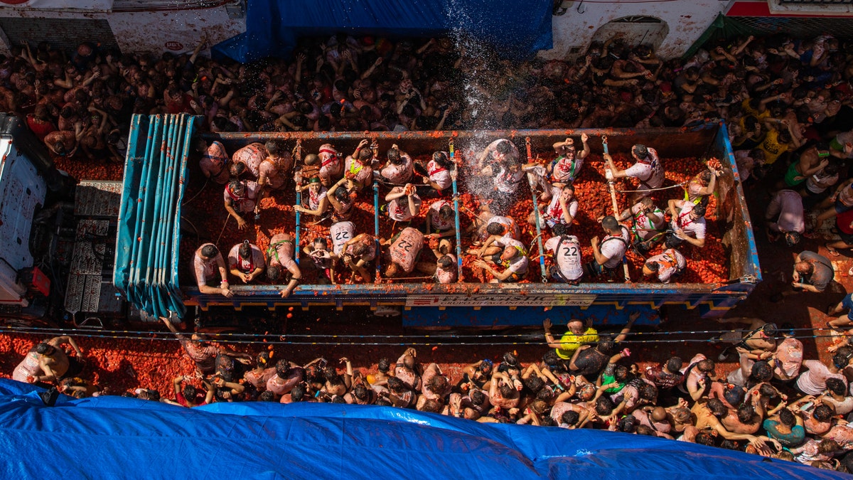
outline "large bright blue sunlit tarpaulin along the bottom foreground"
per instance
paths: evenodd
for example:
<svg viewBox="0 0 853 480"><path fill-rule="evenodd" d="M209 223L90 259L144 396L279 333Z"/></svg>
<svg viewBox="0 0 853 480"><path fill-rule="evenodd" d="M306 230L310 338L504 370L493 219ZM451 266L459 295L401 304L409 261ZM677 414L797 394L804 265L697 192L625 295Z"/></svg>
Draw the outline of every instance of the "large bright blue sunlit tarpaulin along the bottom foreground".
<svg viewBox="0 0 853 480"><path fill-rule="evenodd" d="M757 455L599 430L479 424L392 407L119 396L46 407L0 379L2 478L847 477Z"/></svg>

